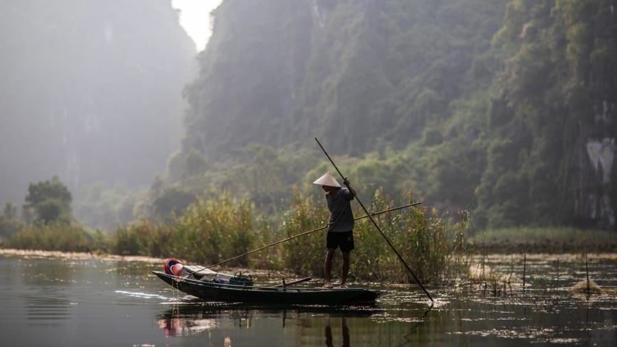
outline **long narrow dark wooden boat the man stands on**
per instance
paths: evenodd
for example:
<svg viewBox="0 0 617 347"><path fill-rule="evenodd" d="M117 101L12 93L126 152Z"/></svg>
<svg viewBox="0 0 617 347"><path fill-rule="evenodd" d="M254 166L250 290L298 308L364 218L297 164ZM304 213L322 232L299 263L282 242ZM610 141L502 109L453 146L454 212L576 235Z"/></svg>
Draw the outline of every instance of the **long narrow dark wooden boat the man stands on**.
<svg viewBox="0 0 617 347"><path fill-rule="evenodd" d="M363 288L262 287L252 285L252 280L230 284L206 276L197 279L160 271L154 271L154 274L172 287L208 302L346 305L372 303L383 294L382 291Z"/></svg>

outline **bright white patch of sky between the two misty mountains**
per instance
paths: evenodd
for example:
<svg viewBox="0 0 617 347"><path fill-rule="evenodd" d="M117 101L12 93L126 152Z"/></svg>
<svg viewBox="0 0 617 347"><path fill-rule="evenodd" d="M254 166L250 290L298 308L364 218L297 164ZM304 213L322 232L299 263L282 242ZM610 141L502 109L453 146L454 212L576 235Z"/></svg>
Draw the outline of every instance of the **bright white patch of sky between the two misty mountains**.
<svg viewBox="0 0 617 347"><path fill-rule="evenodd" d="M171 0L171 6L178 8L180 25L186 34L195 41L197 51L203 51L212 34L210 32L210 11L214 10L222 0Z"/></svg>

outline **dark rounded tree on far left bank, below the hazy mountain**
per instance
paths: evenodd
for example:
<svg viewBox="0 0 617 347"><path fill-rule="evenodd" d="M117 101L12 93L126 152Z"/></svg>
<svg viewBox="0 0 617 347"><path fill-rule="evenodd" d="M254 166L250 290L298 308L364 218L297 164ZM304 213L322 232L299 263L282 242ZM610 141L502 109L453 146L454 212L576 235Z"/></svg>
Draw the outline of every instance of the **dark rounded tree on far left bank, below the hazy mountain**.
<svg viewBox="0 0 617 347"><path fill-rule="evenodd" d="M35 222L68 224L73 219L72 200L69 189L60 181L60 178L53 176L51 180L29 185L24 207L34 210Z"/></svg>

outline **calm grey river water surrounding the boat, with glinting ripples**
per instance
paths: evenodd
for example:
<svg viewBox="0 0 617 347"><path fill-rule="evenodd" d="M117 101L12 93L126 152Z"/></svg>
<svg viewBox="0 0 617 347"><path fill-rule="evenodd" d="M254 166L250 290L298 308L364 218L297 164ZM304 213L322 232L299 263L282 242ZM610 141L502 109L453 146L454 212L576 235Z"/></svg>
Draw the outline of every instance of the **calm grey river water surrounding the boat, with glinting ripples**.
<svg viewBox="0 0 617 347"><path fill-rule="evenodd" d="M159 259L0 250L0 346L617 346L617 254L477 261L484 278L427 287L433 304L411 284L365 285L388 290L372 306L272 307L185 296ZM588 275L599 291L572 290Z"/></svg>

